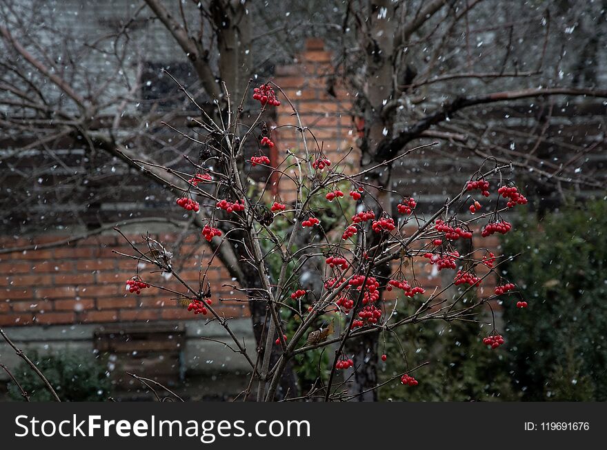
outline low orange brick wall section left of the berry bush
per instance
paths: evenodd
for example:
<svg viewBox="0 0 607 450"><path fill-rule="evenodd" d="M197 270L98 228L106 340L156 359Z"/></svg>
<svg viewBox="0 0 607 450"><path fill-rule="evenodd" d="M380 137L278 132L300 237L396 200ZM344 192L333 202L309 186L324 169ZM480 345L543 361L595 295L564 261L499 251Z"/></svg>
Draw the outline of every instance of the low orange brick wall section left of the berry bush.
<svg viewBox="0 0 607 450"><path fill-rule="evenodd" d="M176 263L185 264L181 267L180 276L197 286L199 258L205 247L195 234L192 231L192 236L178 248L172 248L177 234L152 236L166 243L167 248L174 252ZM134 243L141 241L137 234L128 237ZM61 235L31 239L4 237L0 242L6 248L50 243L64 238L66 236ZM137 274L137 262L118 256L112 250L134 253L123 238L108 234L61 247L0 255L0 326L199 318L159 289L143 289L139 296L126 292L126 280ZM148 274L150 269L139 266L139 273L145 280L184 292L183 286L175 279ZM215 289L215 306L221 314L235 318L248 316L248 308L243 303L226 301L217 304L219 297L238 297L229 287L221 287L223 283L230 282L224 267L212 267L207 276Z"/></svg>

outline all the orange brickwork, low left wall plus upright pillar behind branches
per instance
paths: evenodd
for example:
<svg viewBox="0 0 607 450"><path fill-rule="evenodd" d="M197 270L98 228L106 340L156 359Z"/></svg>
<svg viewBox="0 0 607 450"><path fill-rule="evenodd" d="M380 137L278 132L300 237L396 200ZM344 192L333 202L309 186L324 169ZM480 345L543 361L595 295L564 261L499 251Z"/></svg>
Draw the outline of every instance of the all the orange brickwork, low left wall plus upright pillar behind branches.
<svg viewBox="0 0 607 450"><path fill-rule="evenodd" d="M332 161L338 161L350 147L355 148L356 126L350 113L348 92L339 83L328 92L333 71L330 57L321 40L309 39L305 51L293 65L277 68L275 81L299 111L304 126L310 127L324 154ZM304 152L299 133L293 127L285 126L297 124L288 103L277 109L276 124L278 128L274 135L280 149L279 160L286 155L287 148L292 152ZM311 134L307 136L309 150L315 152L315 140ZM355 170L359 163L357 150L353 150L347 161L351 170ZM292 196L292 183L279 181L278 191L283 200L288 201ZM146 228L141 227L139 231L145 232ZM196 284L205 243L192 231L178 248L173 248L176 236L166 232L156 235L175 254L175 261L186 264L180 273L183 279ZM20 247L66 237L65 234L43 234L33 238L5 236L0 242L5 248ZM141 239L136 233L129 237L135 242ZM480 243L475 238L474 244L495 247L498 241L494 237ZM132 252L120 236L109 232L52 249L0 254L0 326L199 319L176 305L170 294L158 289L144 289L140 296L128 294L126 280L137 273L136 263L113 254L112 249ZM149 276L149 268L140 267L140 272L150 283L183 291L175 280L166 280L160 274ZM439 274L425 262L419 261L416 274L426 288L440 285ZM221 287L231 283L224 267L212 267L208 279L214 289L215 306L222 314L234 318L248 316L246 303L217 304L219 297L239 296L237 292L231 292L230 287Z"/></svg>

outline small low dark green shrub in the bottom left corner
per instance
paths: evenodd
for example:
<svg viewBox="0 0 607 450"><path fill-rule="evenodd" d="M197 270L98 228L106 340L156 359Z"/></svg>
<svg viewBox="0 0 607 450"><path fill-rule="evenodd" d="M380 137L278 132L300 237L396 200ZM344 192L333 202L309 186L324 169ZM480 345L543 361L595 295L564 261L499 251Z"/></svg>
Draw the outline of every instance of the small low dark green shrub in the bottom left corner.
<svg viewBox="0 0 607 450"><path fill-rule="evenodd" d="M30 360L50 382L63 401L94 402L108 398L111 382L106 369L92 354L66 352L58 356L39 356L35 351L28 354ZM44 382L26 362L13 371L13 375L29 394L30 400L45 402L53 400ZM21 391L9 382L8 392L15 400L23 400Z"/></svg>

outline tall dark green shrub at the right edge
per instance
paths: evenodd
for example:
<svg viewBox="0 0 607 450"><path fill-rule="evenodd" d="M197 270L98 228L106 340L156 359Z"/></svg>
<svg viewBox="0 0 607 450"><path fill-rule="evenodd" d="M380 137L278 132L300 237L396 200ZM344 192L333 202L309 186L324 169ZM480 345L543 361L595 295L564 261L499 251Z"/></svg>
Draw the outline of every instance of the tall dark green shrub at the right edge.
<svg viewBox="0 0 607 450"><path fill-rule="evenodd" d="M520 222L504 236L529 302L504 304L513 381L524 400L607 400L607 202Z"/></svg>

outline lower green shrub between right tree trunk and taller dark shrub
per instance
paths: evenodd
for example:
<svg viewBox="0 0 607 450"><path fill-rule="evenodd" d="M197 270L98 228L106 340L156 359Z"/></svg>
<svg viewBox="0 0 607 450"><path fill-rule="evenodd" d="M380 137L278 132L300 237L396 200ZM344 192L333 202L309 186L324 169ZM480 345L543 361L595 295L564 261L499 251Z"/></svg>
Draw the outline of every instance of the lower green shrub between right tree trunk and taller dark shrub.
<svg viewBox="0 0 607 450"><path fill-rule="evenodd" d="M401 311L401 314L407 312ZM479 319L480 314L476 318ZM481 327L479 323L439 320L427 320L399 329L399 340L409 367L417 367L424 362L429 364L411 374L419 385L407 387L397 378L379 389L380 400L516 400L510 386L506 351L503 347L491 350L483 345L481 340L487 332L488 327ZM380 339L380 352L382 348ZM388 360L381 370L380 381L389 380L406 369L398 342L388 335L386 354Z"/></svg>

